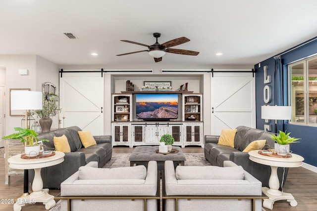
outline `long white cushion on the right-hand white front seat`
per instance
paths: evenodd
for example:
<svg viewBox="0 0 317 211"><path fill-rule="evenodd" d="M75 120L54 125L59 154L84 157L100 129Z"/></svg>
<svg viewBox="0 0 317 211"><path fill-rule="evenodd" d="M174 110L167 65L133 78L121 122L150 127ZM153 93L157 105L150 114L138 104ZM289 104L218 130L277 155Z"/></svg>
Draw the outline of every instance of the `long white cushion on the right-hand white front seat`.
<svg viewBox="0 0 317 211"><path fill-rule="evenodd" d="M175 170L176 178L183 179L244 179L244 169L236 167L185 167L177 166Z"/></svg>

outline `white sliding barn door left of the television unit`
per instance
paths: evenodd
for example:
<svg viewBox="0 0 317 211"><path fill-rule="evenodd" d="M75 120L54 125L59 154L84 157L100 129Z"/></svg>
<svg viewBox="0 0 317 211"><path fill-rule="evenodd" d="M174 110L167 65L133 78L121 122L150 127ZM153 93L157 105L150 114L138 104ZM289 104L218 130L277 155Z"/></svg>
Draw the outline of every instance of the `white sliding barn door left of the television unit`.
<svg viewBox="0 0 317 211"><path fill-rule="evenodd" d="M101 73L62 73L61 127L78 126L93 135L104 135L104 81Z"/></svg>

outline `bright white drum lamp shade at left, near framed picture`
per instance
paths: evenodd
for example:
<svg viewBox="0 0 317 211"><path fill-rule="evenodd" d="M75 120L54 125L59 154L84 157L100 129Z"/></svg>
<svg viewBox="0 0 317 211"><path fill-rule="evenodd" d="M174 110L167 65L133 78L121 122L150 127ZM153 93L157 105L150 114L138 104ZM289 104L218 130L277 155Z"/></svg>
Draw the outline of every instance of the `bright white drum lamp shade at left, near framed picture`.
<svg viewBox="0 0 317 211"><path fill-rule="evenodd" d="M11 110L42 110L41 91L12 91Z"/></svg>

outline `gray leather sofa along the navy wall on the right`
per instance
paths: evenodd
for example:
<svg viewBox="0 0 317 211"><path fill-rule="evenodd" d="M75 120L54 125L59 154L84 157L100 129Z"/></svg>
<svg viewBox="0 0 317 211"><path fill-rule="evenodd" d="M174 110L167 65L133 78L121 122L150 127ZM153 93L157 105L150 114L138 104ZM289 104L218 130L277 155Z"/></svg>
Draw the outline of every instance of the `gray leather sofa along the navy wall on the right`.
<svg viewBox="0 0 317 211"><path fill-rule="evenodd" d="M266 144L274 147L274 141L270 138L269 132L251 127L239 126L234 138L234 147L219 145L217 135L205 135L204 152L206 159L213 166L223 167L223 161L232 161L248 171L251 175L262 182L263 187L268 187L268 180L271 173L269 166L255 163L249 159L247 152L242 152L252 141L266 140ZM283 185L286 181L288 168L278 168L277 174ZM283 179L284 174L284 179Z"/></svg>

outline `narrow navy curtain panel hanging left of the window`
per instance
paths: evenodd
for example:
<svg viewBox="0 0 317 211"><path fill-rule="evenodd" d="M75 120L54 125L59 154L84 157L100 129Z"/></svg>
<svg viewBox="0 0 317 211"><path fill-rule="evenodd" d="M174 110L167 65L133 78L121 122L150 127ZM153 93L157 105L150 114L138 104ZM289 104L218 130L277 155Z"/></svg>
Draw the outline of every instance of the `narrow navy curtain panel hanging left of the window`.
<svg viewBox="0 0 317 211"><path fill-rule="evenodd" d="M283 73L282 59L280 56L275 57L274 70L274 104L282 106L283 104ZM279 130L284 131L284 120L277 120L277 133Z"/></svg>

